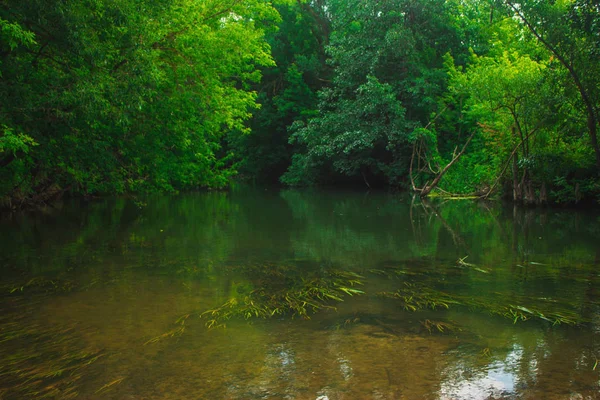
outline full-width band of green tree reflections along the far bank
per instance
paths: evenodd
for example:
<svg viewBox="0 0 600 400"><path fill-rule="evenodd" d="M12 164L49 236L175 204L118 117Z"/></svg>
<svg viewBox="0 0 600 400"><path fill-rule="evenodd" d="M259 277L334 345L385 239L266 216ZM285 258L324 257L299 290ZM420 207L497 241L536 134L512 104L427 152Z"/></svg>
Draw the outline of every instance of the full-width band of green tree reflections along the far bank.
<svg viewBox="0 0 600 400"><path fill-rule="evenodd" d="M3 221L0 239L9 250L4 263L26 281L75 270L97 274L96 267L111 279L123 268L207 277L226 260L372 268L423 257L454 263L468 255L501 286L529 290L538 281L536 290L558 291L586 279L573 266L597 257L599 224L590 221L597 215L465 201L410 206L381 193L238 190L65 203ZM468 277L473 285L476 278Z"/></svg>

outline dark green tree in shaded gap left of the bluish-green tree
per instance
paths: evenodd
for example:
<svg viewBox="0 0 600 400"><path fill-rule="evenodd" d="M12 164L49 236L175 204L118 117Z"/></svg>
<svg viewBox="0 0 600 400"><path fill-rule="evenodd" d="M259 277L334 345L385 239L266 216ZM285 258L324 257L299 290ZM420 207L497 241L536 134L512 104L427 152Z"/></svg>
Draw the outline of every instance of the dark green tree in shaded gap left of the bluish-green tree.
<svg viewBox="0 0 600 400"><path fill-rule="evenodd" d="M324 44L329 21L319 2L278 4L281 22L267 34L275 65L262 68L255 85L260 108L249 123L250 132L229 136L229 146L241 159L240 173L262 182L277 182L288 168L292 146L288 127L314 111L316 92L328 80Z"/></svg>

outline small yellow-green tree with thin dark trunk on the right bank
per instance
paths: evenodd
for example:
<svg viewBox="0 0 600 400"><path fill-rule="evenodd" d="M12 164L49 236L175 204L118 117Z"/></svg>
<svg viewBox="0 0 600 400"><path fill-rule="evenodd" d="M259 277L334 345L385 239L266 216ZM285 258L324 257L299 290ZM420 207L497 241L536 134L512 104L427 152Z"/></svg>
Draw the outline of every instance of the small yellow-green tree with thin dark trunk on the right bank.
<svg viewBox="0 0 600 400"><path fill-rule="evenodd" d="M530 169L534 167L534 135L543 127L539 104L544 80L545 65L528 56L505 51L499 57L477 57L461 73L451 67L451 90L466 94L466 113L477 121L487 143L479 149L490 155L486 167L492 173L482 177L490 179L504 163L512 160L513 198L533 201ZM522 173L519 174L521 166Z"/></svg>

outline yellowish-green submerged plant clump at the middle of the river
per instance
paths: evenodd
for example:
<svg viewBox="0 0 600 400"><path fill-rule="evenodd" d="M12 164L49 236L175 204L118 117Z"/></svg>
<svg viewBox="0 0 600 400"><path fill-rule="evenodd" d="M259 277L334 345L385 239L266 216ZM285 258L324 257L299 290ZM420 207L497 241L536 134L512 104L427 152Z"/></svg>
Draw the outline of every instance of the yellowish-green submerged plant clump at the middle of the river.
<svg viewBox="0 0 600 400"><path fill-rule="evenodd" d="M269 275L273 276L273 275ZM276 275L275 275L276 276ZM204 311L209 328L223 326L235 317L271 318L277 315L310 318L320 309L335 309L332 302L343 301L345 295L364 292L355 286L362 284L363 277L348 271L313 272L298 278L262 280L261 287L241 296L232 297L221 306Z"/></svg>

